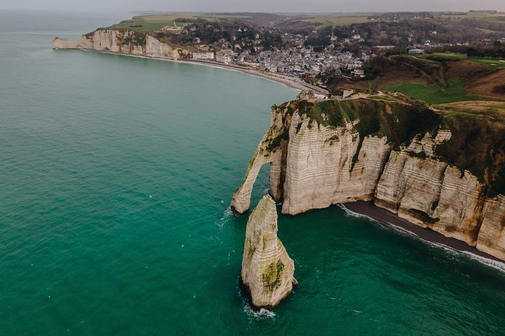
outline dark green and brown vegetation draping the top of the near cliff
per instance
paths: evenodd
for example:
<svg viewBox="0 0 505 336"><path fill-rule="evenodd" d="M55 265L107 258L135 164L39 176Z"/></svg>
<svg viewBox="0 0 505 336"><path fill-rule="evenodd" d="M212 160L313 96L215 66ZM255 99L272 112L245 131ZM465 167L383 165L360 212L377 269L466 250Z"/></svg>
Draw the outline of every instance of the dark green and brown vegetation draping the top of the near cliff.
<svg viewBox="0 0 505 336"><path fill-rule="evenodd" d="M280 107L288 114L298 110L323 126L338 127L359 120L355 127L360 143L353 162L363 139L370 135L387 137L398 150L426 132L435 136L440 129L450 130L452 137L436 146L435 155L462 174L468 170L477 176L487 186L488 195L505 195L505 111L500 106L495 106L494 118L485 118L481 110L464 112L453 107L447 112L433 111L422 105L375 99L296 101Z"/></svg>

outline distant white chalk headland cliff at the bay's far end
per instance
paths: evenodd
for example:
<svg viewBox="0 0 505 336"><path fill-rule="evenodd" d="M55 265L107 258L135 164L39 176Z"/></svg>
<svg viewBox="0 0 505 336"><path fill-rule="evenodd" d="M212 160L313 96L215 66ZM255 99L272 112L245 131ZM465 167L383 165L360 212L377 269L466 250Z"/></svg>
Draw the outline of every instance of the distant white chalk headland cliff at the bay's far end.
<svg viewBox="0 0 505 336"><path fill-rule="evenodd" d="M149 34L129 29L97 29L76 40L54 38L53 49L86 49L129 55L179 59L189 50L168 45Z"/></svg>

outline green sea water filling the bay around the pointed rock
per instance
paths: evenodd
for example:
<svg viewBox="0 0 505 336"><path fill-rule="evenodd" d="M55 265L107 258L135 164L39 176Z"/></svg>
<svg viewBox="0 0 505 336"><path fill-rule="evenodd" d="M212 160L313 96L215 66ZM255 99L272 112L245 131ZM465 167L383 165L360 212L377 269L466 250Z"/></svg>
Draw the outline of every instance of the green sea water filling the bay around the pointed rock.
<svg viewBox="0 0 505 336"><path fill-rule="evenodd" d="M0 12L0 335L504 335L503 271L340 207L281 216L299 287L253 313L228 206L297 92L50 49L128 16Z"/></svg>

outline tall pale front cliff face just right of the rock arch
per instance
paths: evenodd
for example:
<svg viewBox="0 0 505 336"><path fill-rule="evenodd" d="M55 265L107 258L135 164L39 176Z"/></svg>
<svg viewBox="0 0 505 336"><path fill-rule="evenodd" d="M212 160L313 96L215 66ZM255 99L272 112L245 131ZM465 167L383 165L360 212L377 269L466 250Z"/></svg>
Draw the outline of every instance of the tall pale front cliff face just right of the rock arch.
<svg viewBox="0 0 505 336"><path fill-rule="evenodd" d="M352 123L325 127L298 113L289 134L283 214L372 200L391 151L386 137L365 137L359 148L359 133Z"/></svg>

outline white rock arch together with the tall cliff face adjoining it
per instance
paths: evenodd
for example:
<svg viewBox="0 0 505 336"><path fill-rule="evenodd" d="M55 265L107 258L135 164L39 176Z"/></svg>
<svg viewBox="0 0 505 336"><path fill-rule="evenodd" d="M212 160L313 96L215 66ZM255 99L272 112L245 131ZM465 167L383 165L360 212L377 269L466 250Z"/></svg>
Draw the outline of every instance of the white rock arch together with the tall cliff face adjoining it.
<svg viewBox="0 0 505 336"><path fill-rule="evenodd" d="M271 127L234 194L231 202L234 211L239 214L248 211L257 174L266 163L270 163L269 193L275 200L283 198L283 214L372 200L391 151L386 137L365 137L359 148L359 134L353 123L332 127L318 125L297 112L291 117L286 111L274 109L272 114ZM289 141L278 141L278 146L269 150L271 139L282 137L285 132Z"/></svg>

